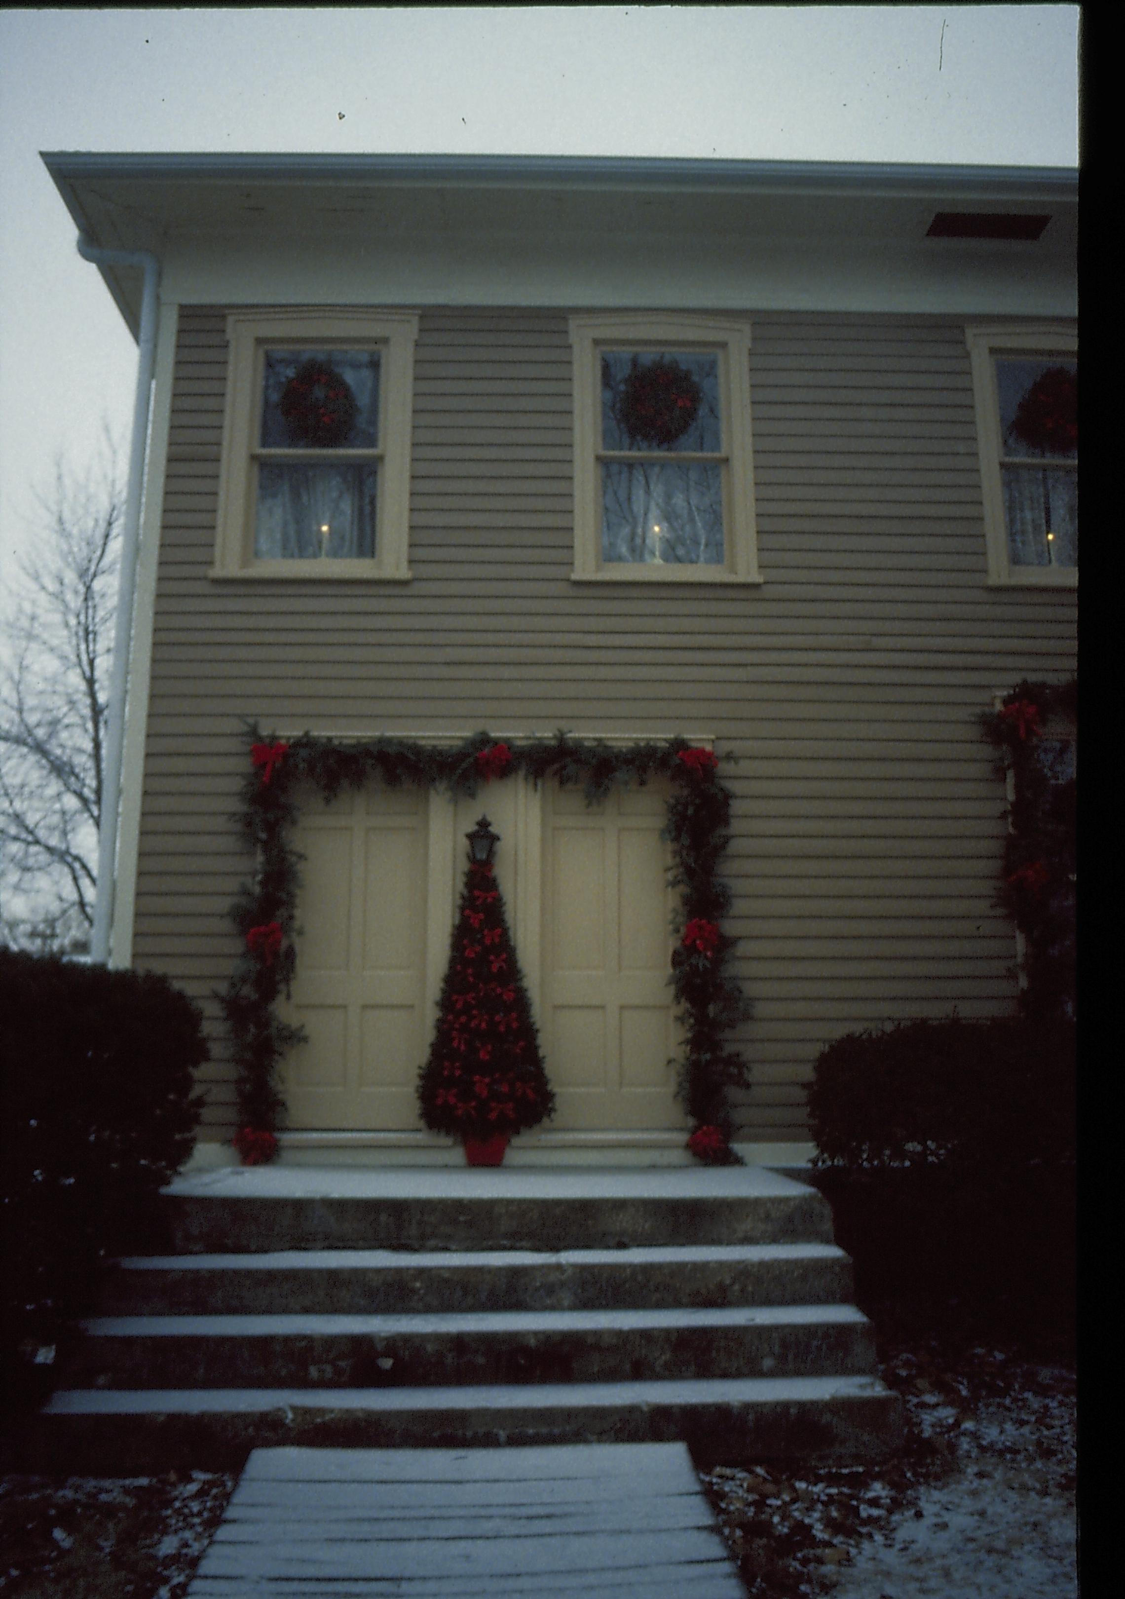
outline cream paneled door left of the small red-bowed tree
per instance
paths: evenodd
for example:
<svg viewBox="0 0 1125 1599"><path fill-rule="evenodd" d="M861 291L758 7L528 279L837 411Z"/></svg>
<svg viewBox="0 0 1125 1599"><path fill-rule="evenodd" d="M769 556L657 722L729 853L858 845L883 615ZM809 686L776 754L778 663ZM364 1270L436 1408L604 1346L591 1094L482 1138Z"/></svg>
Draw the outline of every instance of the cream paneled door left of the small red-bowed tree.
<svg viewBox="0 0 1125 1599"><path fill-rule="evenodd" d="M284 1065L289 1127L417 1127L427 1047L428 796L302 806L297 975L283 1014L308 1043Z"/></svg>

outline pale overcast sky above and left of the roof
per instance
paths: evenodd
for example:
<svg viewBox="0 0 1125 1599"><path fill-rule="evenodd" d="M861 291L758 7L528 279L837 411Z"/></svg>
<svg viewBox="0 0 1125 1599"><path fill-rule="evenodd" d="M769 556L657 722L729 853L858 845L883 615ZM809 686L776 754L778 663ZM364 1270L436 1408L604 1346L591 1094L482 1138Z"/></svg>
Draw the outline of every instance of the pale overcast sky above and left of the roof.
<svg viewBox="0 0 1125 1599"><path fill-rule="evenodd" d="M0 582L136 345L38 150L1077 165L1072 5L0 11Z"/></svg>

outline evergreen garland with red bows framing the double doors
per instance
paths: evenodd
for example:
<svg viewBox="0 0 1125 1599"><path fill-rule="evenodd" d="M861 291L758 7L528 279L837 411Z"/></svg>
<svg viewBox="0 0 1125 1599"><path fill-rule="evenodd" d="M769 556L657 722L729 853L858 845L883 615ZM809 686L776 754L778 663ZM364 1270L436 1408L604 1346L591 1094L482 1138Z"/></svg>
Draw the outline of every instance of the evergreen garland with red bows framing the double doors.
<svg viewBox="0 0 1125 1599"><path fill-rule="evenodd" d="M671 780L665 835L673 847L671 883L681 891L682 932L671 959L671 983L684 1025L678 1062L678 1095L694 1122L689 1148L708 1164L737 1162L730 1148L727 1089L741 1087L748 1068L729 1035L749 1014L730 974L737 940L722 932L730 891L719 876L729 843L730 790L719 782L718 760L686 739L615 747L599 740L553 739L502 744L487 732L459 745L438 747L409 739L377 737L337 742L304 734L286 744L251 728L251 771L241 793L238 823L256 852L257 870L232 907L241 955L222 996L238 1068L238 1113L244 1159L268 1159L273 1130L284 1111L276 1068L304 1041L299 1028L275 1011L296 972L299 855L289 844L297 819L296 793L312 784L328 801L342 788L371 782L388 788L444 788L475 796L507 776L524 774L535 785L582 785L590 804L615 787ZM241 1138L241 1145L238 1140Z"/></svg>

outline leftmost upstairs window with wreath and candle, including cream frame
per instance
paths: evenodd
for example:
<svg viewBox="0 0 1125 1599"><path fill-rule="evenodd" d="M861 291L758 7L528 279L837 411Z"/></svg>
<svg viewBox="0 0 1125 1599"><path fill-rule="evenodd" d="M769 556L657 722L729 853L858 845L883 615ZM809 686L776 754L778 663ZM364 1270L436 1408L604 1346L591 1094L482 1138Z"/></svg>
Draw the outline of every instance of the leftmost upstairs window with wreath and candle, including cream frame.
<svg viewBox="0 0 1125 1599"><path fill-rule="evenodd" d="M406 579L417 317L235 312L219 577Z"/></svg>

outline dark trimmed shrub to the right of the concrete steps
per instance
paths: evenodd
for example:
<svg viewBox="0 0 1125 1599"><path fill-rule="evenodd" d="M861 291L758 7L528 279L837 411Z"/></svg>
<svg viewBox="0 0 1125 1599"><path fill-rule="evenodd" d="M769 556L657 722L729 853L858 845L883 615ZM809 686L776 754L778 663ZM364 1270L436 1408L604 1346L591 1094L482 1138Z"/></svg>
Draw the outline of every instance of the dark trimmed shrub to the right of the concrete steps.
<svg viewBox="0 0 1125 1599"><path fill-rule="evenodd" d="M1074 1023L906 1022L850 1033L809 1091L818 1186L868 1302L1069 1334Z"/></svg>

